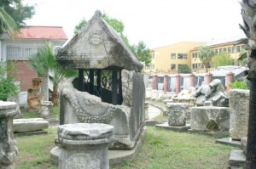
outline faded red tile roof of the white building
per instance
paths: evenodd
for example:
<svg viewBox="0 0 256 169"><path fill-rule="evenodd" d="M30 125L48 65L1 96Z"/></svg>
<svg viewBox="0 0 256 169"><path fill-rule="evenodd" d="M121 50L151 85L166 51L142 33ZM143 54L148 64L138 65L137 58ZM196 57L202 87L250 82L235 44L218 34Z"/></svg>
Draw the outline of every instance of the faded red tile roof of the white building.
<svg viewBox="0 0 256 169"><path fill-rule="evenodd" d="M67 40L67 35L61 26L23 26L17 38Z"/></svg>

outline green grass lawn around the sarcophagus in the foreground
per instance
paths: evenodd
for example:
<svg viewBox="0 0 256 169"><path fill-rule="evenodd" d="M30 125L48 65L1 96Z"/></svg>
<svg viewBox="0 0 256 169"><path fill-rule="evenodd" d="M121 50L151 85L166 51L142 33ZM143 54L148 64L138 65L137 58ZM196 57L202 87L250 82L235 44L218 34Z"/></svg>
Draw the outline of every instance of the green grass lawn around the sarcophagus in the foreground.
<svg viewBox="0 0 256 169"><path fill-rule="evenodd" d="M56 169L49 150L54 148L55 128L47 135L16 138L19 155L16 169ZM198 134L172 132L148 127L147 137L139 155L132 162L123 161L113 169L222 169L228 168L230 150L227 145L215 144L215 139Z"/></svg>

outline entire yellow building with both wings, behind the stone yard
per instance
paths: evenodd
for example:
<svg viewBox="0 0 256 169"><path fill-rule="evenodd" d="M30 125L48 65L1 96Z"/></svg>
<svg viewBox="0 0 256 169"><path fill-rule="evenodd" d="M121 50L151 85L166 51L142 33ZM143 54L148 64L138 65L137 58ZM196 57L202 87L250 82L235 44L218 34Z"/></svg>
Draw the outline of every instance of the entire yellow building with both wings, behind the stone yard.
<svg viewBox="0 0 256 169"><path fill-rule="evenodd" d="M245 38L229 38L214 42L177 42L160 48L151 49L152 61L144 68L145 73L177 74L179 65L189 65L192 72L206 71L198 58L198 52L203 45L210 47L215 54L228 52L234 60L239 59L245 48ZM214 56L213 56L214 57Z"/></svg>

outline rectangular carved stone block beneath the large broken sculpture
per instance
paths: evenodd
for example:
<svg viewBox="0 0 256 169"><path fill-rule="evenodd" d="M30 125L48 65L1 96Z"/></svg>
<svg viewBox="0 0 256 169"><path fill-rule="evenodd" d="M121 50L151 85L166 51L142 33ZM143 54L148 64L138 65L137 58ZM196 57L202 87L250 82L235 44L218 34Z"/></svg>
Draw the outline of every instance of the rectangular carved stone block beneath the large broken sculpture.
<svg viewBox="0 0 256 169"><path fill-rule="evenodd" d="M227 107L203 106L191 109L191 129L201 132L222 132L230 129Z"/></svg>

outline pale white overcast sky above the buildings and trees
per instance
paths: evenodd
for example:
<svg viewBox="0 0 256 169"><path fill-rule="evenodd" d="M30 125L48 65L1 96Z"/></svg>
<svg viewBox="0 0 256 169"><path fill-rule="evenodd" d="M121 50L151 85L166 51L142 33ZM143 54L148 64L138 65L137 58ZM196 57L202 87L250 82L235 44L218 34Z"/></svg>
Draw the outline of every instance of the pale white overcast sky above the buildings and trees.
<svg viewBox="0 0 256 169"><path fill-rule="evenodd" d="M97 9L121 20L131 44L148 48L175 42L211 42L243 35L239 0L24 0L37 3L27 25L60 25L68 38Z"/></svg>

